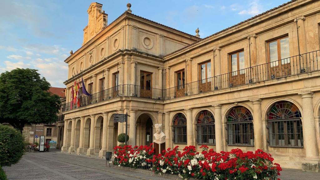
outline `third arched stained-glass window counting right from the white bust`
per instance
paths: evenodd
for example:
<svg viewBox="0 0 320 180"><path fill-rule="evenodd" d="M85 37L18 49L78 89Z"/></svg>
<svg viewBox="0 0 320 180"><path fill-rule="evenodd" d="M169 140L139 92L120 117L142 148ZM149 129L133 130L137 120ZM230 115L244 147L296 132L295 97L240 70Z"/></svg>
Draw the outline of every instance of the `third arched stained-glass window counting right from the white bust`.
<svg viewBox="0 0 320 180"><path fill-rule="evenodd" d="M254 145L253 124L251 112L236 106L227 115L228 145Z"/></svg>

